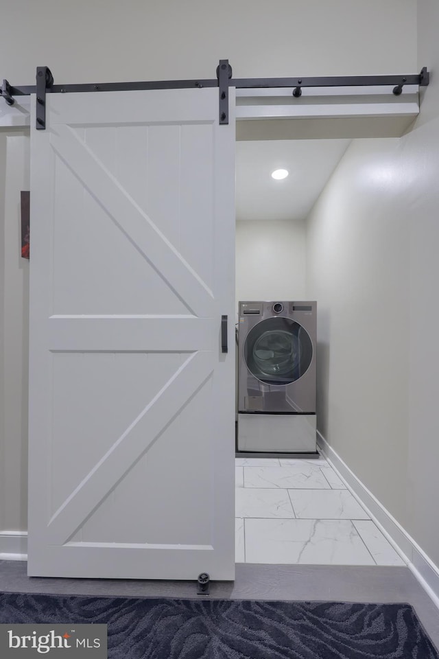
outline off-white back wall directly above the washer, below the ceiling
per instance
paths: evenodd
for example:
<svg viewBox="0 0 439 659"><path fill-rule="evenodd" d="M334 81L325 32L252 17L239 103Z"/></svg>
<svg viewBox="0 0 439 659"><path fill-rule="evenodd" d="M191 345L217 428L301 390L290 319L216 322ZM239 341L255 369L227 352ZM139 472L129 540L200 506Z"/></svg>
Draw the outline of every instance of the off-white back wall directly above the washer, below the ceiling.
<svg viewBox="0 0 439 659"><path fill-rule="evenodd" d="M238 220L236 308L239 300L305 299L305 222Z"/></svg>

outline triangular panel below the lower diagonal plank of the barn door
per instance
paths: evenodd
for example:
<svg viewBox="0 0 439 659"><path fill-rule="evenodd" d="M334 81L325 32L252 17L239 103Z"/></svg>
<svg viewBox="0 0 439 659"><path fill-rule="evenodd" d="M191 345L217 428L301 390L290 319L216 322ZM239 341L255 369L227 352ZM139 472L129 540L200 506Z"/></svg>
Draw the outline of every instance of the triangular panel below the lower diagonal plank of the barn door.
<svg viewBox="0 0 439 659"><path fill-rule="evenodd" d="M191 445L175 444L172 441L174 428L165 429L160 441L148 450L133 467L130 479L124 479L117 485L112 496L114 503L108 507L106 502L99 507L82 528L81 540L93 542L133 542L152 544L200 544L211 545L211 529L207 524L198 524L195 529L189 529L185 522L185 510L190 508L199 520L211 517L213 489L204 492L200 497L198 491L199 474L204 465L209 464L213 455L211 446L204 441L209 435L210 424L211 380L202 386L193 398L193 405L186 406L174 423L178 424L180 432L191 433ZM200 432L193 433L193 406L204 408L204 413L198 415ZM170 451L172 454L170 456ZM180 465L187 461L188 451L195 451L197 460L187 464L185 470ZM157 492L169 488L174 496L157 497ZM123 515L130 505L132 493L145 502L141 520L135 516ZM147 502L154 500L154 509ZM121 520L119 528L112 529L110 515L116 511ZM72 540L78 540L79 534Z"/></svg>

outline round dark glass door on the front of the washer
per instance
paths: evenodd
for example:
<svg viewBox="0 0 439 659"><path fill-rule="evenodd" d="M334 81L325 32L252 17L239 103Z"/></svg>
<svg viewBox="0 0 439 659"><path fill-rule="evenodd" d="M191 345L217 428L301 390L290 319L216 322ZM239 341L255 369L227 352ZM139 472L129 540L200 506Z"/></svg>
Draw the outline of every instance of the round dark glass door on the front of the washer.
<svg viewBox="0 0 439 659"><path fill-rule="evenodd" d="M309 369L313 346L306 329L283 316L261 321L248 332L244 360L265 384L291 384Z"/></svg>

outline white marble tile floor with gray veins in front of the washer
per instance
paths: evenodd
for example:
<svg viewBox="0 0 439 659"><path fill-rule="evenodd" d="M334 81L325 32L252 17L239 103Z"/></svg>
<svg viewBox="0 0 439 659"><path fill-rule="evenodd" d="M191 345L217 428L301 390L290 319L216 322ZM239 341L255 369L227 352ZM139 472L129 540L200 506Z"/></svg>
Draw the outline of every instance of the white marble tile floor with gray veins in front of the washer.
<svg viewBox="0 0 439 659"><path fill-rule="evenodd" d="M236 459L236 562L404 566L333 467Z"/></svg>

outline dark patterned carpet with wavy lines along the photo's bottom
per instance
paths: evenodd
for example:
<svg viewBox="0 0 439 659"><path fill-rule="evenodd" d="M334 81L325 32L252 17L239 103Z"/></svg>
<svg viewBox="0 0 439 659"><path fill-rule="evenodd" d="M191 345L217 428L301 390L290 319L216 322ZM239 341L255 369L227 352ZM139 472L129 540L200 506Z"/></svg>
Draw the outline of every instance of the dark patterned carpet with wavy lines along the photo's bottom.
<svg viewBox="0 0 439 659"><path fill-rule="evenodd" d="M109 659L439 659L408 604L3 593L0 623L107 623Z"/></svg>

